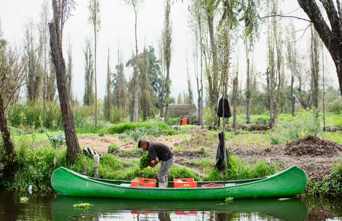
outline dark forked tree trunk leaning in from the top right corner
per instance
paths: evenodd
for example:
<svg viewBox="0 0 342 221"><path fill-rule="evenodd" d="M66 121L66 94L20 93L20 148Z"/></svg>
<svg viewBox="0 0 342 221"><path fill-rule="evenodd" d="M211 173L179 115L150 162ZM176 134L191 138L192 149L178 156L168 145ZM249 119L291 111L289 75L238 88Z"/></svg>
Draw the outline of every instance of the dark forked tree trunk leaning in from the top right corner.
<svg viewBox="0 0 342 221"><path fill-rule="evenodd" d="M301 8L310 18L310 21L314 24L314 27L328 49L332 60L336 66L337 77L339 79L340 93L342 95L342 28L340 18L338 17L336 8L332 0L324 1L323 8L325 9L328 20L330 22L331 29L327 25L324 19L321 18L321 12L316 4L316 1L312 0L297 0Z"/></svg>

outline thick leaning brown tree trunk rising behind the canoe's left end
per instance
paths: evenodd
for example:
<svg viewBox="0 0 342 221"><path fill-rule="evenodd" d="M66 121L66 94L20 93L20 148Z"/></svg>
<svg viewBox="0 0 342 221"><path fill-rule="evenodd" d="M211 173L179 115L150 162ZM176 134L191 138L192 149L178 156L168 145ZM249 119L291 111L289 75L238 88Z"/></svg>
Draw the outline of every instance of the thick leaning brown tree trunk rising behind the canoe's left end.
<svg viewBox="0 0 342 221"><path fill-rule="evenodd" d="M71 99L66 80L66 68L62 52L62 36L59 29L58 13L59 10L56 0L53 0L54 19L49 23L51 56L56 68L57 89L63 117L65 143L70 160L75 161L76 156L81 154L81 149L76 135L74 112L71 107Z"/></svg>

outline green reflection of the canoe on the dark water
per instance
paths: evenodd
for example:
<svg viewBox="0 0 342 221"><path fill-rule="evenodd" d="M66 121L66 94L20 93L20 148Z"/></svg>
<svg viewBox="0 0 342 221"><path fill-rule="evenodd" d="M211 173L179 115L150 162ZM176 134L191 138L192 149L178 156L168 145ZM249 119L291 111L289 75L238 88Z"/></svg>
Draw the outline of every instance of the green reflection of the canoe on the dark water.
<svg viewBox="0 0 342 221"><path fill-rule="evenodd" d="M93 205L87 210L74 209L78 203ZM103 216L121 212L132 214L158 213L159 211L180 211L175 214L195 211L215 211L218 213L253 213L258 216L270 216L280 220L305 220L307 207L299 199L277 200L268 199L234 199L226 203L221 200L146 200L146 199L109 199L96 197L59 196L51 206L53 220L67 220L68 217L78 217L100 213ZM137 212L138 211L138 212ZM184 211L184 212L182 212Z"/></svg>

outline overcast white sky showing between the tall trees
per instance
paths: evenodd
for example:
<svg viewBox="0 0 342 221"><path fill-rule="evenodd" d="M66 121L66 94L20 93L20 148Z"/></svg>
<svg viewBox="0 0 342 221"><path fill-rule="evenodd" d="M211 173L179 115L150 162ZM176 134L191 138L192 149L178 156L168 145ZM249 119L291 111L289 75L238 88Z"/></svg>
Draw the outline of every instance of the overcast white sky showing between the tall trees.
<svg viewBox="0 0 342 221"><path fill-rule="evenodd" d="M0 20L2 23L2 31L4 38L10 43L17 44L23 42L24 25L29 21L29 18L36 23L40 21L41 4L43 0L26 1L8 1L0 0ZM171 96L177 99L180 92L187 91L186 81L186 54L188 54L189 70L192 80L192 89L194 93L194 101L197 103L197 86L195 75L193 74L194 63L192 60L192 42L191 33L188 29L188 9L189 0L184 0L174 3L171 6L171 20L173 26L172 44L174 54L171 61L170 77L172 81ZM49 1L50 3L50 1ZM63 31L63 50L64 58L66 56L66 43L70 36L70 42L73 45L73 90L74 95L81 101L84 93L84 54L85 39L93 37L93 30L88 24L88 0L76 0L76 10L66 23ZM101 29L98 36L97 45L97 88L98 98L103 99L105 95L105 82L107 73L107 53L110 50L110 66L114 71L117 64L117 50L120 41L120 48L123 51L123 60L126 62L132 55L132 50L135 49L134 38L134 11L131 6L125 4L123 0L100 0L101 10ZM279 1L279 8L283 13L288 13L299 8L296 0ZM52 10L51 10L52 14ZM307 18L303 10L299 9L292 13L293 16ZM153 46L155 53L158 55L158 40L160 39L161 29L164 20L164 7L161 0L145 0L142 4L137 16L137 41L138 50L141 52L144 44ZM283 24L287 24L288 20L282 20ZM302 29L307 26L307 22L296 20L296 28ZM265 44L265 25L261 29L260 40L255 45L254 63L257 71L265 72L266 70L266 44ZM308 51L307 38L310 31L307 31L303 39L300 41L298 50ZM298 37L302 32L298 32ZM246 79L246 54L242 41L239 41L238 48L235 49L233 62L239 62L239 78L242 79L242 87L245 85ZM238 53L237 53L238 51ZM332 77L332 82L337 82L336 69L331 60L329 53L326 54L326 62L330 63L327 67L328 76ZM321 61L321 60L320 60ZM321 65L321 64L320 64ZM327 72L325 72L327 73ZM132 75L132 70L127 69L126 76ZM204 76L203 76L204 78Z"/></svg>

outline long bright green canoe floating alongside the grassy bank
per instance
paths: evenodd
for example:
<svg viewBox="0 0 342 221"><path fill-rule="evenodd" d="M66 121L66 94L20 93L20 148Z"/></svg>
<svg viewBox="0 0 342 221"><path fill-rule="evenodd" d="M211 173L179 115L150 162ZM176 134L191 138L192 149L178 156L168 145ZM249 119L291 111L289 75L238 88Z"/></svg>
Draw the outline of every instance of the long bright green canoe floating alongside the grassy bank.
<svg viewBox="0 0 342 221"><path fill-rule="evenodd" d="M131 199L225 199L284 197L299 194L307 184L305 172L292 166L268 177L215 182L224 186L201 187L211 182L197 182L197 188L131 187L130 181L96 179L64 167L51 177L52 188L64 196L91 196Z"/></svg>

